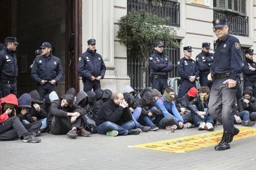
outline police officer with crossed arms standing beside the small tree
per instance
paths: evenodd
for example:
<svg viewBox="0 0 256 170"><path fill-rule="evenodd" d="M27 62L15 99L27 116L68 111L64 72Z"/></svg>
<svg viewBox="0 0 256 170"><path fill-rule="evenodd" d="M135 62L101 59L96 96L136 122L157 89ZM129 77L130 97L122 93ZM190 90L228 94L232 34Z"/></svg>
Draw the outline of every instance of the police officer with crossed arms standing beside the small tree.
<svg viewBox="0 0 256 170"><path fill-rule="evenodd" d="M164 55L164 43L155 42L155 52L150 55L150 71L152 89L157 89L163 94L164 88L168 86L168 73L173 69L173 65L168 55Z"/></svg>

